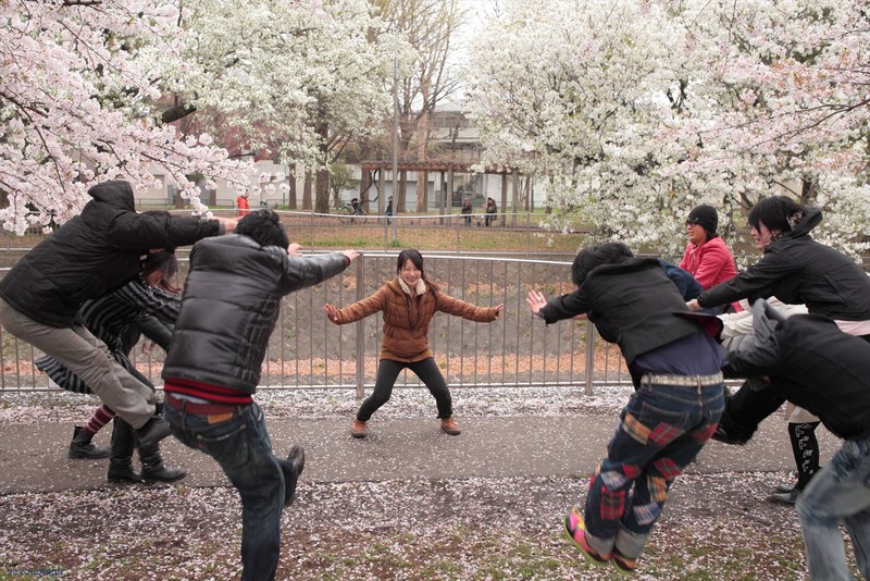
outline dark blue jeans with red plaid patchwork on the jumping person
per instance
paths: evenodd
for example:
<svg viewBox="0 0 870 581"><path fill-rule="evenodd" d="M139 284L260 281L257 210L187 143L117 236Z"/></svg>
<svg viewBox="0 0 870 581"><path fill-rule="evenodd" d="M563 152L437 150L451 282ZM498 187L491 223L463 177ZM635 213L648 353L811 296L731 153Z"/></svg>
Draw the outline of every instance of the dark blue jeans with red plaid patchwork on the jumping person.
<svg viewBox="0 0 870 581"><path fill-rule="evenodd" d="M586 541L601 555L629 559L644 551L668 491L719 423L724 385L642 385L589 479Z"/></svg>

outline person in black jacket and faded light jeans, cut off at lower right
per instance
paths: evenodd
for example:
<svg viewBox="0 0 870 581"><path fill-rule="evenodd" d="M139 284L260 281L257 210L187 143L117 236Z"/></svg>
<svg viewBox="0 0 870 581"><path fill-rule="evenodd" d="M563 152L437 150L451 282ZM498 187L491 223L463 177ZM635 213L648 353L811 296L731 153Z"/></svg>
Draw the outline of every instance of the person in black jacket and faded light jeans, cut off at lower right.
<svg viewBox="0 0 870 581"><path fill-rule="evenodd" d="M753 335L729 354L729 366L745 376L770 378L762 392L806 408L843 438L797 497L809 578L854 579L842 526L858 571L870 579L870 344L825 316L784 319L765 300L753 310Z"/></svg>

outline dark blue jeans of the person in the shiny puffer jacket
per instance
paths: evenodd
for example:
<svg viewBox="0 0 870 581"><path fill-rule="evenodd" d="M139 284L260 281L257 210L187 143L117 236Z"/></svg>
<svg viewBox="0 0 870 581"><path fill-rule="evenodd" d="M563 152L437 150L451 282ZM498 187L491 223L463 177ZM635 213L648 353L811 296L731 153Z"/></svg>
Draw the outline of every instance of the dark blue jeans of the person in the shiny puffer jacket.
<svg viewBox="0 0 870 581"><path fill-rule="evenodd" d="M163 417L186 446L214 458L241 497L241 579L274 579L281 549L281 511L293 498L298 474L272 454L263 411L240 406L229 419L185 413L169 405Z"/></svg>

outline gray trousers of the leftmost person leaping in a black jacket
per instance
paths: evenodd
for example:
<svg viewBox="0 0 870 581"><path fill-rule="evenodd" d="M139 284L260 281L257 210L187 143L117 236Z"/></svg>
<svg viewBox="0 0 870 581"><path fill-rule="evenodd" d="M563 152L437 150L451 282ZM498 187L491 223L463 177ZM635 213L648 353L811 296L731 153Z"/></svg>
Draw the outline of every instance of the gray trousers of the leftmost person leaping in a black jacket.
<svg viewBox="0 0 870 581"><path fill-rule="evenodd" d="M119 364L105 344L84 326L58 329L39 323L3 299L0 299L0 324L78 375L134 428L141 428L154 415L154 391Z"/></svg>

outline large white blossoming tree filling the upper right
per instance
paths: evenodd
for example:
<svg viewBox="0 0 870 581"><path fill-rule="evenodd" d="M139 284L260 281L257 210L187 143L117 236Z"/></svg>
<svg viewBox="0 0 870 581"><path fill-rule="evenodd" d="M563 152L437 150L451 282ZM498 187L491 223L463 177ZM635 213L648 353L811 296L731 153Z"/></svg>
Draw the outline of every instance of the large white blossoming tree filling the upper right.
<svg viewBox="0 0 870 581"><path fill-rule="evenodd" d="M863 248L868 15L830 0L505 2L477 39L469 113L486 163L539 175L601 238L675 252L792 189ZM830 227L830 226L829 226Z"/></svg>

